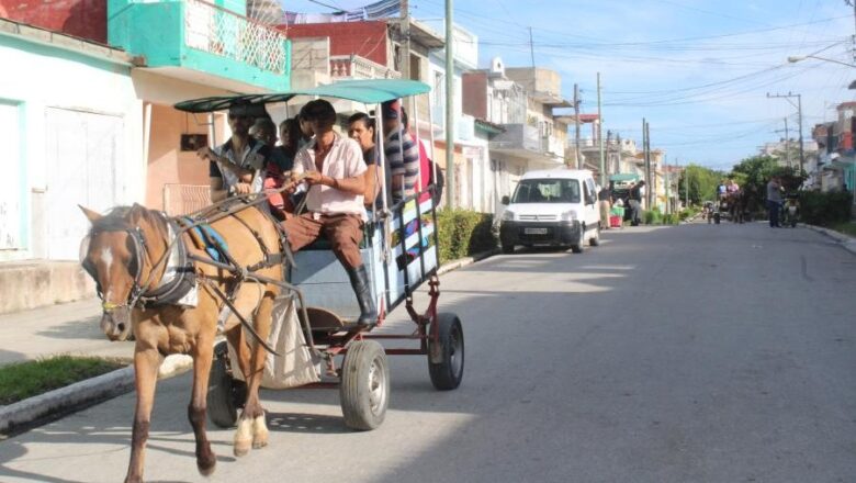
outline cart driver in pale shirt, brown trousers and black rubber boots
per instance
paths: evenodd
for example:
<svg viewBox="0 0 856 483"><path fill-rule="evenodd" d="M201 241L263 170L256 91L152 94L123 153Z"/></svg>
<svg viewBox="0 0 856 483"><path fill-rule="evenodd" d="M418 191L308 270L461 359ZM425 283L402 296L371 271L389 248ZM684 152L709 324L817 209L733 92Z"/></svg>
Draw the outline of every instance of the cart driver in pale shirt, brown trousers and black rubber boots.
<svg viewBox="0 0 856 483"><path fill-rule="evenodd" d="M292 169L291 189L306 182L307 213L289 216L283 226L289 245L297 251L322 235L333 245L333 251L350 278L360 306L357 323L376 323L378 310L371 295L369 276L360 256L362 227L367 221L363 207L365 161L360 145L337 134L336 111L324 100L306 104L305 119L312 124L315 138L297 153Z"/></svg>

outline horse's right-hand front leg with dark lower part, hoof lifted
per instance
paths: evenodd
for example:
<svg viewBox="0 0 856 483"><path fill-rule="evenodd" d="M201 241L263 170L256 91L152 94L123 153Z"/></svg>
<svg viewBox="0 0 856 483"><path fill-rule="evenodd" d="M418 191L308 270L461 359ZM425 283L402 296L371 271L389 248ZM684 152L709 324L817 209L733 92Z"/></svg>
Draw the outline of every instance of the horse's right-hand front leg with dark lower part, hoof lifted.
<svg viewBox="0 0 856 483"><path fill-rule="evenodd" d="M188 406L188 418L196 437L196 468L203 476L214 472L217 458L211 451L211 443L205 434L205 396L209 390L209 377L213 358L213 337L200 335L193 353L193 393Z"/></svg>

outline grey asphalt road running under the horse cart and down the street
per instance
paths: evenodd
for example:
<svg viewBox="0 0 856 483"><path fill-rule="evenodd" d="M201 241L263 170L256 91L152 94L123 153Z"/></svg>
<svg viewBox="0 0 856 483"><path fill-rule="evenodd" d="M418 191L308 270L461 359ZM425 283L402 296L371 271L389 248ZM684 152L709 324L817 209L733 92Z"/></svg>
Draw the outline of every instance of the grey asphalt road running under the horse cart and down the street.
<svg viewBox="0 0 856 483"><path fill-rule="evenodd" d="M444 276L464 381L439 393L425 359L393 358L374 431L343 427L337 391L266 392L271 445L236 460L212 428L203 479L189 378L161 382L147 481L856 481L855 256L763 224L604 238ZM0 442L0 481L121 481L133 400Z"/></svg>

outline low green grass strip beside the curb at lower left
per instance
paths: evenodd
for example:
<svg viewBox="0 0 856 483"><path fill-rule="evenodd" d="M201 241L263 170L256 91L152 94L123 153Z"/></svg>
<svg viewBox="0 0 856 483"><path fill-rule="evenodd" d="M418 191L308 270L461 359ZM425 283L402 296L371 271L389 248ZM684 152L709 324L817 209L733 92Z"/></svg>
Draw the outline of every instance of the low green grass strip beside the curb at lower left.
<svg viewBox="0 0 856 483"><path fill-rule="evenodd" d="M95 357L57 356L0 368L0 405L64 387L126 364Z"/></svg>

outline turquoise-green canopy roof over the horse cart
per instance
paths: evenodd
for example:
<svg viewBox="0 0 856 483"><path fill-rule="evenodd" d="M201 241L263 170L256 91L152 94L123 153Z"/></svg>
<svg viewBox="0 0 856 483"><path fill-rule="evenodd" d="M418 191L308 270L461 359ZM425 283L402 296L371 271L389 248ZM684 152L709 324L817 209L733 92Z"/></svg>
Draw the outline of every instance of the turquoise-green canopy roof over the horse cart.
<svg viewBox="0 0 856 483"><path fill-rule="evenodd" d="M376 104L379 102L423 94L430 90L431 88L428 87L427 83L419 82L418 80L343 80L341 82L309 89L194 99L179 102L176 104L176 109L192 113L215 112L227 110L233 104L270 104L288 102L290 99L297 96L317 96L322 98L347 99L365 104Z"/></svg>

